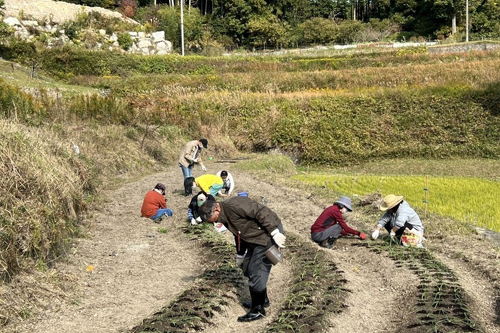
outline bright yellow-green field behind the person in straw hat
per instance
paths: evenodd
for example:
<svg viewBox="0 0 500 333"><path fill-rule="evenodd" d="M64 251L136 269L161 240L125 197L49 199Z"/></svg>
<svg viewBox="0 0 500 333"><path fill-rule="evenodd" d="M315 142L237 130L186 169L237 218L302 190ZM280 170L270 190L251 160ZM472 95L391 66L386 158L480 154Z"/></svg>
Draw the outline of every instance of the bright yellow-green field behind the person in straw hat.
<svg viewBox="0 0 500 333"><path fill-rule="evenodd" d="M341 173L302 173L293 179L316 186L325 186L339 194L353 196L373 192L382 195L404 195L413 207L460 221L500 231L500 182L475 177L425 175L374 175Z"/></svg>

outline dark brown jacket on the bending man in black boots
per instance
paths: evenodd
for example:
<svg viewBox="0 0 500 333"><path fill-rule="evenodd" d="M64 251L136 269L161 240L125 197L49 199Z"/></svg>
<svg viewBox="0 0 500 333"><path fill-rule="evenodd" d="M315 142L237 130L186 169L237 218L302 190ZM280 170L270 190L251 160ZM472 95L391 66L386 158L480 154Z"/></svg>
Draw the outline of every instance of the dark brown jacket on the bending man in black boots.
<svg viewBox="0 0 500 333"><path fill-rule="evenodd" d="M278 228L281 220L268 207L244 196L233 196L220 202L218 221L235 236L248 243L265 246L270 233Z"/></svg>

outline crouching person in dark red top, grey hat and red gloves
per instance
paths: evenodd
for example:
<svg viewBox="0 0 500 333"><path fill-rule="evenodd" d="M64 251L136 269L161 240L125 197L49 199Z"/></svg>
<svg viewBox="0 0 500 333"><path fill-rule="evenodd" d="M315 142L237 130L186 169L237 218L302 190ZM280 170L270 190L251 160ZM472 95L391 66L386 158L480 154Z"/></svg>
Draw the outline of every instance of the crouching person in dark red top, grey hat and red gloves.
<svg viewBox="0 0 500 333"><path fill-rule="evenodd" d="M340 236L352 234L366 239L363 232L352 229L345 223L342 214L352 211L350 198L340 196L333 205L324 209L311 226L311 238L319 246L330 248Z"/></svg>

